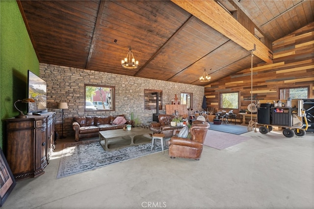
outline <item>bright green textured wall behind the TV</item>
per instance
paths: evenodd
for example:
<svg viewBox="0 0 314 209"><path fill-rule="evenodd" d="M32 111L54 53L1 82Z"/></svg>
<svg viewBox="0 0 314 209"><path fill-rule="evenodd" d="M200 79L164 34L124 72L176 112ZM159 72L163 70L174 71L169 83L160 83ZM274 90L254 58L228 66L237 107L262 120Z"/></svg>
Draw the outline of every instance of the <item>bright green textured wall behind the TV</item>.
<svg viewBox="0 0 314 209"><path fill-rule="evenodd" d="M19 112L14 102L27 98L27 70L39 75L39 61L16 1L0 0L0 147L5 152L5 119ZM19 104L26 112L26 105Z"/></svg>

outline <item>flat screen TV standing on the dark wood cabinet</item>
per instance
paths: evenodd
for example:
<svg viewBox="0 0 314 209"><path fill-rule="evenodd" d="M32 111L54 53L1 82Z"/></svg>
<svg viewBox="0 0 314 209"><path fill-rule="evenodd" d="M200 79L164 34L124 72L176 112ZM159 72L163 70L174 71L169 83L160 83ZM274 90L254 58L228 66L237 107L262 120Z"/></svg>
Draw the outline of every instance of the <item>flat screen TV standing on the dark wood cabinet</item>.
<svg viewBox="0 0 314 209"><path fill-rule="evenodd" d="M35 100L34 103L28 103L28 113L47 111L47 82L30 70L28 70L27 77L28 98Z"/></svg>

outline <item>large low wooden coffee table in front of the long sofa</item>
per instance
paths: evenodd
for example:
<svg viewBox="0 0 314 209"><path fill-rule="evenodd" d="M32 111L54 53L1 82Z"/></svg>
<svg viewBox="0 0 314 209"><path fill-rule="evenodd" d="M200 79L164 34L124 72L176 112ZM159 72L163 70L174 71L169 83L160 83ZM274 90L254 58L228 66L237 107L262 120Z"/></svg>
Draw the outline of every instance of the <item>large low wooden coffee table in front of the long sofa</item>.
<svg viewBox="0 0 314 209"><path fill-rule="evenodd" d="M123 129L99 131L100 144L105 151L117 150L152 141L149 129L132 128L131 131Z"/></svg>

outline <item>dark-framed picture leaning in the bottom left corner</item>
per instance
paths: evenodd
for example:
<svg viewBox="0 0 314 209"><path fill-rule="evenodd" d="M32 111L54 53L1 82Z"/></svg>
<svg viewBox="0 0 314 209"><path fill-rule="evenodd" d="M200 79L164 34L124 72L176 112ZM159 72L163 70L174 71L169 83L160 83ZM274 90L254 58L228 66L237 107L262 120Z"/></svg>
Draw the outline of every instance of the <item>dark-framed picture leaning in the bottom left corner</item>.
<svg viewBox="0 0 314 209"><path fill-rule="evenodd" d="M6 200L6 198L13 190L14 186L16 185L16 181L1 148L0 150L1 150L0 157L0 207L1 207L3 206L3 203Z"/></svg>

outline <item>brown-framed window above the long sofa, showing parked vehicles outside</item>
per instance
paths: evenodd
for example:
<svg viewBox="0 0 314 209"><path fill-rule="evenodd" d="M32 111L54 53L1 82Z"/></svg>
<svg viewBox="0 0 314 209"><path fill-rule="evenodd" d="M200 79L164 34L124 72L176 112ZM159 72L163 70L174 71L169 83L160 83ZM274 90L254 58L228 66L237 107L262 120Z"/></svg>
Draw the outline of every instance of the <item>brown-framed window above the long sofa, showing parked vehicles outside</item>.
<svg viewBox="0 0 314 209"><path fill-rule="evenodd" d="M114 110L114 86L85 84L85 111Z"/></svg>

